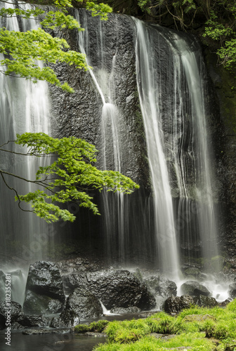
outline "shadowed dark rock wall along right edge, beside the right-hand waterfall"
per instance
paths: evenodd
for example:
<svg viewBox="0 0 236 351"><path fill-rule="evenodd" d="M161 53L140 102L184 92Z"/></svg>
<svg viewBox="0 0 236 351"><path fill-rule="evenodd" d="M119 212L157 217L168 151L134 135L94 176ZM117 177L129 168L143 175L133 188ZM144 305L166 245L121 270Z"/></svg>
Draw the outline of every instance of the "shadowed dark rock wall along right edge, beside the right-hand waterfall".
<svg viewBox="0 0 236 351"><path fill-rule="evenodd" d="M225 256L236 257L236 94L231 89L235 86L235 78L223 66L218 65L218 58L213 53L207 53L206 64L211 76L218 103L212 105L215 116L221 115L221 119L215 119L215 143L221 147L220 157L218 157L217 168L220 208L223 221L220 228L220 243ZM218 112L217 112L218 110ZM233 273L236 270L234 267Z"/></svg>

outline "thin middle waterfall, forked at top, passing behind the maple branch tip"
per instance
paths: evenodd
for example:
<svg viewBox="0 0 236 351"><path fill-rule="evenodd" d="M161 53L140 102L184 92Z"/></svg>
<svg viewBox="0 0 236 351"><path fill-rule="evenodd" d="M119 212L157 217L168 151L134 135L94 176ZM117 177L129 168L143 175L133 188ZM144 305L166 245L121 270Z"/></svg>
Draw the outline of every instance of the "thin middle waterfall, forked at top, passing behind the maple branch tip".
<svg viewBox="0 0 236 351"><path fill-rule="evenodd" d="M76 11L75 17L78 22L79 11ZM79 32L78 41L81 53L86 54L86 61L88 65L90 62L89 51L89 26L86 16L86 11L83 11L82 27L84 32ZM115 104L116 100L116 86L114 81L114 72L116 69L116 54L113 53L110 72L105 69L104 62L104 39L103 39L103 25L98 22L97 28L97 43L98 43L98 57L97 62L100 66L96 72L89 68L89 74L96 86L100 98L103 102L102 112L100 116L100 137L101 137L101 166L104 170L113 169L114 171L122 172L122 154L120 152L120 131L119 126L122 124L122 114ZM105 231L105 250L107 251L108 260L112 260L112 253L114 250L114 243L118 242L119 259L124 261L125 256L125 227L126 227L126 201L124 194L117 192L110 194L106 190L102 192L103 202L103 218Z"/></svg>

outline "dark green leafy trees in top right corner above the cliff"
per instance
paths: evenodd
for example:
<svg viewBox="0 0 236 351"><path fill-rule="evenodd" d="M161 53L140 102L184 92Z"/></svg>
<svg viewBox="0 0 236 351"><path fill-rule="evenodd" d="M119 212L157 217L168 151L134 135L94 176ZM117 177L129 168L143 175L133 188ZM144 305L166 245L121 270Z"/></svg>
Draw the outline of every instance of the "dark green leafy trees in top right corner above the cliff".
<svg viewBox="0 0 236 351"><path fill-rule="evenodd" d="M164 25L173 19L178 30L199 30L204 44L214 50L219 62L236 73L235 0L138 0L144 13ZM166 23L169 25L169 21Z"/></svg>

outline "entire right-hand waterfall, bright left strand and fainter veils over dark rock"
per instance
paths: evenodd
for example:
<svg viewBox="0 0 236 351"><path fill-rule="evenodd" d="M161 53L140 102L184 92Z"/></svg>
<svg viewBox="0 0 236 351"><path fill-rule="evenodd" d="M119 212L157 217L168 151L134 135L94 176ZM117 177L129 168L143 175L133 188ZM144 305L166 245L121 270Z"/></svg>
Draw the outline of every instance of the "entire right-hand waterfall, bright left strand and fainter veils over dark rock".
<svg viewBox="0 0 236 351"><path fill-rule="evenodd" d="M204 63L191 37L139 20L134 22L137 85L152 178L157 255L162 271L173 272L174 277L178 274L177 246L181 240L189 246L189 261L199 256L206 260L218 256ZM168 70L158 53L163 46ZM178 201L173 201L175 198ZM195 243L199 239L203 252L196 256Z"/></svg>

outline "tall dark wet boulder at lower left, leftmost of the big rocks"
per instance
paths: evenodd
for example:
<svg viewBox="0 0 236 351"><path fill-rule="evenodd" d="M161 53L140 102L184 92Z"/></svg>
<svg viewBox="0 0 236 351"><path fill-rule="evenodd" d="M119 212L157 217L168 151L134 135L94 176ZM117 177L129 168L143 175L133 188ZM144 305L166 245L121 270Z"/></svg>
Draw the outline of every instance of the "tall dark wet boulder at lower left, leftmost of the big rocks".
<svg viewBox="0 0 236 351"><path fill-rule="evenodd" d="M23 305L26 314L61 312L65 303L63 281L55 263L38 261L29 266Z"/></svg>

